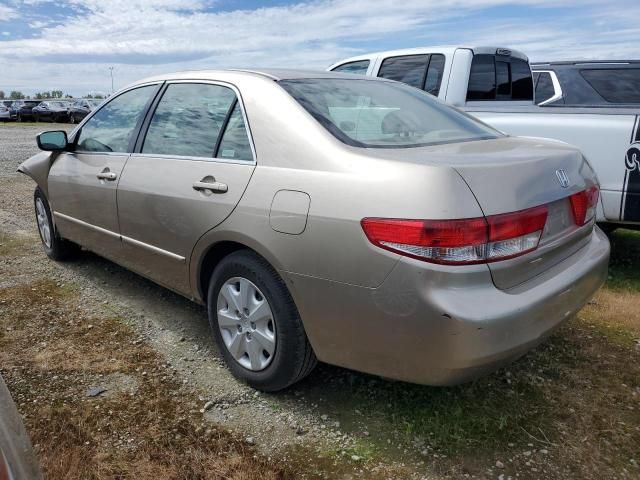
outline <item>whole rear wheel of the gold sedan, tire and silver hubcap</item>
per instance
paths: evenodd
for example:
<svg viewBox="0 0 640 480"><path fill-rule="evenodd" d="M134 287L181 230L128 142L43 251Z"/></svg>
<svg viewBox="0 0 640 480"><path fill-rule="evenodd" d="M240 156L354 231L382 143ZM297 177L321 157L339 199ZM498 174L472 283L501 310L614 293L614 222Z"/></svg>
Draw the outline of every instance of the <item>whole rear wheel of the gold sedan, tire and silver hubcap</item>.
<svg viewBox="0 0 640 480"><path fill-rule="evenodd" d="M302 380L317 359L289 290L262 257L240 250L214 270L209 323L231 373L266 392Z"/></svg>

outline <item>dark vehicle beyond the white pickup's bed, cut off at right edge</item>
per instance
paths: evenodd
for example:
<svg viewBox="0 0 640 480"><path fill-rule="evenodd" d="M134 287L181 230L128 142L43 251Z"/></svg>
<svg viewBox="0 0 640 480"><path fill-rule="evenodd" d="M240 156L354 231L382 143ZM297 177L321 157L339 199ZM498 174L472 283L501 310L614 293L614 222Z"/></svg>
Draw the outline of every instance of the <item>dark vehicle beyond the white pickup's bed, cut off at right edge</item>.
<svg viewBox="0 0 640 480"><path fill-rule="evenodd" d="M640 61L578 60L532 63L538 105L640 105Z"/></svg>

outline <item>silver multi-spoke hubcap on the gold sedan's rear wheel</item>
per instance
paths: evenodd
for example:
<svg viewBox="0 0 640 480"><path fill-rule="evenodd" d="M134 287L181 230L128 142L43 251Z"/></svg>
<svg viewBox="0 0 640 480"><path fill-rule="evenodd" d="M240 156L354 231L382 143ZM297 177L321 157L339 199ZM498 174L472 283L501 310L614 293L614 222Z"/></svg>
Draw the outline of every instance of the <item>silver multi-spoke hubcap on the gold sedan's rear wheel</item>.
<svg viewBox="0 0 640 480"><path fill-rule="evenodd" d="M218 328L233 358L257 372L269 366L276 350L276 324L260 289L242 277L230 278L218 294Z"/></svg>

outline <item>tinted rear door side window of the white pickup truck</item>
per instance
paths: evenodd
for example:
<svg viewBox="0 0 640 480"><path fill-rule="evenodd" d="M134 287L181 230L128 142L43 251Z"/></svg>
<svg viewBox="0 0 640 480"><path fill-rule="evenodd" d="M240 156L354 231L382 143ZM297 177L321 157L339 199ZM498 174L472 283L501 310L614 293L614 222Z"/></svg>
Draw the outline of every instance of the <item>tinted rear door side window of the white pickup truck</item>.
<svg viewBox="0 0 640 480"><path fill-rule="evenodd" d="M378 77L396 80L438 96L444 71L444 55L405 55L386 58Z"/></svg>

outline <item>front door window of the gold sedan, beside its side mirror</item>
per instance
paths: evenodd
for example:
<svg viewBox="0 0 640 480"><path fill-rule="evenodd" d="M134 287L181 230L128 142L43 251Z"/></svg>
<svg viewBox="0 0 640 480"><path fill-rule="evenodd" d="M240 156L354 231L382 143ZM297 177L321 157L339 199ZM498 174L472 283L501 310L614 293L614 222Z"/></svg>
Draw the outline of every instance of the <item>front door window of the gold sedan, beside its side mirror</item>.
<svg viewBox="0 0 640 480"><path fill-rule="evenodd" d="M76 151L127 152L156 85L129 90L107 103L82 127Z"/></svg>

